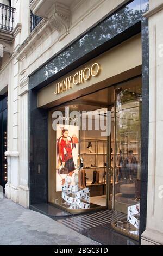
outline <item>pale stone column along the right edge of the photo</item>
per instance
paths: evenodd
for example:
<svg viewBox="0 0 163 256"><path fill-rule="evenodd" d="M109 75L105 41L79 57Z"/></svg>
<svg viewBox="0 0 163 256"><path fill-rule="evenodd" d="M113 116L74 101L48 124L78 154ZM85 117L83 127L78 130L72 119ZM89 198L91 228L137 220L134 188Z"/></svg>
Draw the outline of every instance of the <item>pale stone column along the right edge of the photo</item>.
<svg viewBox="0 0 163 256"><path fill-rule="evenodd" d="M163 0L149 11L149 160L147 225L142 245L163 245Z"/></svg>

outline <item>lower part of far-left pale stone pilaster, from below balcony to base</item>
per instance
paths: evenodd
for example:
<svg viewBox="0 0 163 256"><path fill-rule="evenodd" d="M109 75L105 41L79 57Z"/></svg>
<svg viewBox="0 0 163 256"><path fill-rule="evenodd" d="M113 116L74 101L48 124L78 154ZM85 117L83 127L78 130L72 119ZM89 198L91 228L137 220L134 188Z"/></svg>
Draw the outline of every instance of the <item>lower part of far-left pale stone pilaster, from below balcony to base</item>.
<svg viewBox="0 0 163 256"><path fill-rule="evenodd" d="M8 182L6 196L18 203L18 61L11 60L8 85Z"/></svg>

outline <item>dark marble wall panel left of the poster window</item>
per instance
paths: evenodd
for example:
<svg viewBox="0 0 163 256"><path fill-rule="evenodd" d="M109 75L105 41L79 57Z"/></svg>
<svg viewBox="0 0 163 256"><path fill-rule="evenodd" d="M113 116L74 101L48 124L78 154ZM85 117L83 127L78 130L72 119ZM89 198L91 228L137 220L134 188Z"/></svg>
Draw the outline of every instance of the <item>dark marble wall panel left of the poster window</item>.
<svg viewBox="0 0 163 256"><path fill-rule="evenodd" d="M37 108L37 92L29 93L30 204L47 203L48 112Z"/></svg>

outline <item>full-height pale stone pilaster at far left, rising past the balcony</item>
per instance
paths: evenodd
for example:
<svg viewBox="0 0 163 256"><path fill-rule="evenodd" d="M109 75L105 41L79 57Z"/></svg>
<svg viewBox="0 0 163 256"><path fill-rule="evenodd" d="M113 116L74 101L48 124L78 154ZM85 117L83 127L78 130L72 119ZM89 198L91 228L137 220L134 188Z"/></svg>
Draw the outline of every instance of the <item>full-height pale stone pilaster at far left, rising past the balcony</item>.
<svg viewBox="0 0 163 256"><path fill-rule="evenodd" d="M21 24L20 22L20 0L12 1L12 7L16 8L14 25L12 31L14 40L12 44L12 54L10 56L10 72L8 84L8 149L5 156L8 157L8 181L5 185L5 194L15 203L18 203L18 183L19 183L19 149L18 149L18 81L19 81L19 62L14 54L20 46Z"/></svg>

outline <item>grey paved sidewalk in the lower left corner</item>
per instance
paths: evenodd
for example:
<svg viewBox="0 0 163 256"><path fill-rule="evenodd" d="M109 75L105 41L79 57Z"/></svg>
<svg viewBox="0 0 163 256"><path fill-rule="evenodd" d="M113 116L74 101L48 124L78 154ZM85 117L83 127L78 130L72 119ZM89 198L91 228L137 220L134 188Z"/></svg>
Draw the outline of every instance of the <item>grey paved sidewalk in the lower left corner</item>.
<svg viewBox="0 0 163 256"><path fill-rule="evenodd" d="M0 245L99 245L38 212L0 199Z"/></svg>

